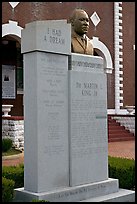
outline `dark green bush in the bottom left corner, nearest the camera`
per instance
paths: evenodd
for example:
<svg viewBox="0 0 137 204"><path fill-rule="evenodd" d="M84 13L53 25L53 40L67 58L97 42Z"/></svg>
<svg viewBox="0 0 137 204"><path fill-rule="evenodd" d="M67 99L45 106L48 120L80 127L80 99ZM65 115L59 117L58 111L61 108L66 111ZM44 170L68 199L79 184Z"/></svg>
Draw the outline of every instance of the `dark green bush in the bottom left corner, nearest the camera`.
<svg viewBox="0 0 137 204"><path fill-rule="evenodd" d="M10 202L14 198L14 184L13 180L2 177L2 202Z"/></svg>

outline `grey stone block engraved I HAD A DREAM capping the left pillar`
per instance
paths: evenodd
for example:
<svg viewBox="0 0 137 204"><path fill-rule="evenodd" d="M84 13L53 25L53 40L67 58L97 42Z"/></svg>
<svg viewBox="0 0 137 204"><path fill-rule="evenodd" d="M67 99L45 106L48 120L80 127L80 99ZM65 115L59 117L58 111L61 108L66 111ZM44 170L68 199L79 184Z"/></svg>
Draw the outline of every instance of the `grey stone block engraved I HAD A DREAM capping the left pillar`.
<svg viewBox="0 0 137 204"><path fill-rule="evenodd" d="M34 21L21 31L21 51L71 54L71 26L66 20Z"/></svg>

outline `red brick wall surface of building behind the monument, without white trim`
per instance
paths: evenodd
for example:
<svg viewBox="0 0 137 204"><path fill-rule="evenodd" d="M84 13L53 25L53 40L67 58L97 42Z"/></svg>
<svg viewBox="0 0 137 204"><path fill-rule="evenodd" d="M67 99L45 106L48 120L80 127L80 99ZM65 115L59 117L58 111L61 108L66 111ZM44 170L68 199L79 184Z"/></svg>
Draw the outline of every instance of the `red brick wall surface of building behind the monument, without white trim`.
<svg viewBox="0 0 137 204"><path fill-rule="evenodd" d="M114 66L114 2L20 2L14 9L8 2L2 3L2 24L8 20L19 22L25 27L26 23L35 20L68 19L74 8L79 7L87 11L89 16L94 11L100 18L95 28L90 22L88 36L99 37L109 49ZM135 3L123 2L123 70L124 70L124 104L134 105L135 94L135 64L132 45L135 44ZM128 14L128 15L127 15ZM115 108L115 74L107 75L108 108Z"/></svg>

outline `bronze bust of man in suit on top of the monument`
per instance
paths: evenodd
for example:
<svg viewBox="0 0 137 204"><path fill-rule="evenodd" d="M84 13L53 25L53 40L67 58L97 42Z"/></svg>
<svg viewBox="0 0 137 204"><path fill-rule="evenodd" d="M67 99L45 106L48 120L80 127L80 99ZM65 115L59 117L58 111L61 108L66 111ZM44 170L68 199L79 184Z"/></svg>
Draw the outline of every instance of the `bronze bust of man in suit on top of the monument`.
<svg viewBox="0 0 137 204"><path fill-rule="evenodd" d="M69 18L71 23L71 52L93 55L93 45L86 33L89 29L89 17L83 9L75 9Z"/></svg>

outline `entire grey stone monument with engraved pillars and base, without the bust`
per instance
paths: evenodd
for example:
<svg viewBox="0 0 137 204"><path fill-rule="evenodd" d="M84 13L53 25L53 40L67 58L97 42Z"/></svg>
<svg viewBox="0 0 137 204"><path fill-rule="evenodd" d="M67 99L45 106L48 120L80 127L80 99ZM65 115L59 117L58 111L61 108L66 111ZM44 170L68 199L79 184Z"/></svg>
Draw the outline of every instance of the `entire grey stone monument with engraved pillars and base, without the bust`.
<svg viewBox="0 0 137 204"><path fill-rule="evenodd" d="M103 59L71 53L66 20L27 24L21 46L24 187L15 201L134 201L108 176Z"/></svg>

